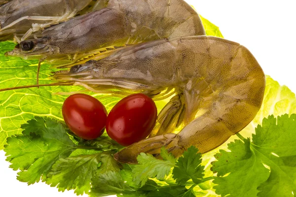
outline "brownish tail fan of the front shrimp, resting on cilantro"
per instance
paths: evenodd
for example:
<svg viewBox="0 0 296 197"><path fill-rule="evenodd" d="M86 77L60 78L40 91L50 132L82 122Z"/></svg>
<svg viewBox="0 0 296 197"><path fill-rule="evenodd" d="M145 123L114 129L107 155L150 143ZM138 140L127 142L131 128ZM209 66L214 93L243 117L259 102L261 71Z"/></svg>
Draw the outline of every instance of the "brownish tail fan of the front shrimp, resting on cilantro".
<svg viewBox="0 0 296 197"><path fill-rule="evenodd" d="M182 146L178 145L179 140L179 135L175 133L166 133L149 137L122 149L114 155L114 159L120 163L136 164L137 156L140 155L140 153L148 153L157 159L161 159L160 149L163 146L169 153L178 157L185 151Z"/></svg>

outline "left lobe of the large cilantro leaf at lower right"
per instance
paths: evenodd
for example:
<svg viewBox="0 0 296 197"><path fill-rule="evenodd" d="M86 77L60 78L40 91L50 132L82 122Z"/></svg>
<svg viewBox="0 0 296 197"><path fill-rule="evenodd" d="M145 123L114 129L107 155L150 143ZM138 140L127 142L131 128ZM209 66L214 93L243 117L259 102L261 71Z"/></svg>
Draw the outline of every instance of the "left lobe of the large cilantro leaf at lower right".
<svg viewBox="0 0 296 197"><path fill-rule="evenodd" d="M212 169L220 177L213 181L218 185L214 189L222 197L227 194L233 197L256 197L259 192L257 187L268 178L268 169L251 150L250 143L250 139L244 142L235 140L228 144L231 152L220 150L215 155L218 162L213 163Z"/></svg>

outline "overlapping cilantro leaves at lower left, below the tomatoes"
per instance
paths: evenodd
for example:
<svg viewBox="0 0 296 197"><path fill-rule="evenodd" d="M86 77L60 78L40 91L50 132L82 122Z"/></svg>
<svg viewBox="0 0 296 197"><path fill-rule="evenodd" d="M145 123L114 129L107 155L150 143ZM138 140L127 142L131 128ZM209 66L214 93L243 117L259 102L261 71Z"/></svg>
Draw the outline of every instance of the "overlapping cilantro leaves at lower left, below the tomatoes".
<svg viewBox="0 0 296 197"><path fill-rule="evenodd" d="M74 189L77 195L82 195L89 192L95 174L120 170L113 159L118 149L109 150L109 143L105 147L77 145L65 126L56 120L36 117L21 128L23 134L7 138L4 149L10 167L21 170L19 181L30 185L41 179L57 186L59 191ZM93 142L99 143L100 139Z"/></svg>

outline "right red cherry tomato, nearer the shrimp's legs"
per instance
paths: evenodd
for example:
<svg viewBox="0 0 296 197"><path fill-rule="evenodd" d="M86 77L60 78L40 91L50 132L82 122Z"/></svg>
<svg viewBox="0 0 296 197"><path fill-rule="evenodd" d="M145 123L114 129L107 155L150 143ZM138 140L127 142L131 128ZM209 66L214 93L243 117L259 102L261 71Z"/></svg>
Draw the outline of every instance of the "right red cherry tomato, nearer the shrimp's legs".
<svg viewBox="0 0 296 197"><path fill-rule="evenodd" d="M152 99L135 94L120 100L111 110L106 123L108 135L123 146L145 139L153 130L157 108Z"/></svg>

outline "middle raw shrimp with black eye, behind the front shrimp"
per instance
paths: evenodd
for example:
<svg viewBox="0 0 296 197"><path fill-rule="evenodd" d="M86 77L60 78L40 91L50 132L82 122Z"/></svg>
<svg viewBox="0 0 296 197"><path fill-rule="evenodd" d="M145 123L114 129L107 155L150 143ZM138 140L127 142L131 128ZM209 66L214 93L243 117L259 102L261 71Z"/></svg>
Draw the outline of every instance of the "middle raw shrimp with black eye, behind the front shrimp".
<svg viewBox="0 0 296 197"><path fill-rule="evenodd" d="M39 55L61 63L99 53L105 47L205 34L198 14L183 0L109 0L96 8L101 9L47 28L42 38L21 42L21 47L7 54ZM31 41L34 48L22 50Z"/></svg>

